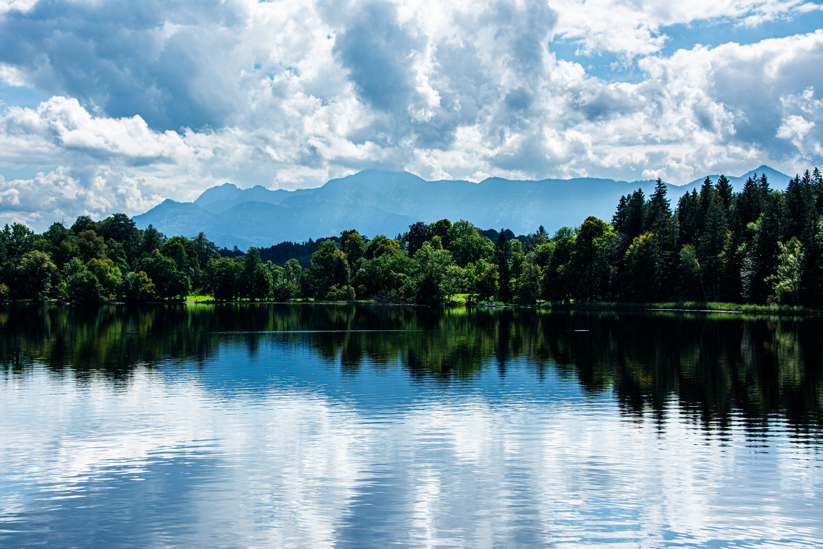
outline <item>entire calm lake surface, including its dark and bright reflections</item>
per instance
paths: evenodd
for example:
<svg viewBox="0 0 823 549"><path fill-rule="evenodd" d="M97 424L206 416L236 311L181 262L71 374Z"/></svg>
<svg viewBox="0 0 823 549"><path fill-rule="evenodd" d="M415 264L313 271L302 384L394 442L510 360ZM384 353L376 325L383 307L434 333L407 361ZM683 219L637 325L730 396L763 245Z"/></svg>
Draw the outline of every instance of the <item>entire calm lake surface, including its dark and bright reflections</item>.
<svg viewBox="0 0 823 549"><path fill-rule="evenodd" d="M820 547L823 321L0 309L0 546Z"/></svg>

